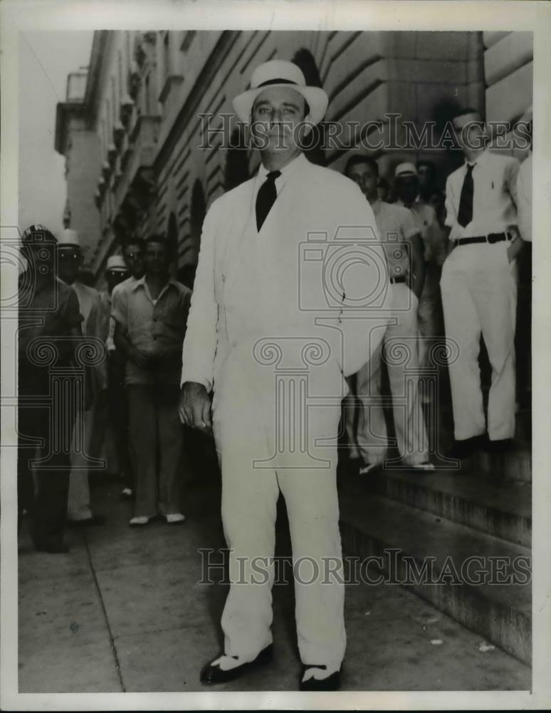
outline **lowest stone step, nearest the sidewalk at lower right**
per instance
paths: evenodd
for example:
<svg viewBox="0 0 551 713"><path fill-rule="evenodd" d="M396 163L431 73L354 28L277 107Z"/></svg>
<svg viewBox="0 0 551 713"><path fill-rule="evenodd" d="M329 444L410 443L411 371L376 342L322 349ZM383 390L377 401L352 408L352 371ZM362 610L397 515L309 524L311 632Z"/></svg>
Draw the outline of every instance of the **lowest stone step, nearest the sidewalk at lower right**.
<svg viewBox="0 0 551 713"><path fill-rule="evenodd" d="M345 555L381 558L369 564L386 578L531 664L528 548L374 495L358 478L341 476L339 483ZM413 565L431 568L431 576L416 579Z"/></svg>

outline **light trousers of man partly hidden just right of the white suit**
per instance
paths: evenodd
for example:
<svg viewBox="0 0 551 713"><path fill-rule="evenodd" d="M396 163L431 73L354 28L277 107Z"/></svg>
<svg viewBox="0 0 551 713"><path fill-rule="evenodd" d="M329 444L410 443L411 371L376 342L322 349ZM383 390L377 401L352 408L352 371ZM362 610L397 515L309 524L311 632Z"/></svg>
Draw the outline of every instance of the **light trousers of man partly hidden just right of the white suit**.
<svg viewBox="0 0 551 713"><path fill-rule="evenodd" d="M382 346L356 375L361 404L345 399L345 424L352 454L365 463L382 463L387 455L387 424L381 397L382 350L389 373L397 447L404 463L418 465L428 459L429 443L419 399L418 302L406 284L394 284L392 320ZM357 428L355 421L357 419Z"/></svg>

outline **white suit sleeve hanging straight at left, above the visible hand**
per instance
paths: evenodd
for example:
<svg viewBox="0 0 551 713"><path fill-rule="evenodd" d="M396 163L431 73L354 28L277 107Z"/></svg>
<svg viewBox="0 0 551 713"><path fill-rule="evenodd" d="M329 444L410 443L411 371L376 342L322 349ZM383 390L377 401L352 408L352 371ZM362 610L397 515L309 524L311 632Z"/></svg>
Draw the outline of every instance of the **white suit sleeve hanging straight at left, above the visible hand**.
<svg viewBox="0 0 551 713"><path fill-rule="evenodd" d="M214 296L214 240L216 237L216 202L207 212L201 232L201 249L195 275L187 330L182 350L180 384L196 381L210 391L214 382L214 356L218 336L218 304Z"/></svg>

